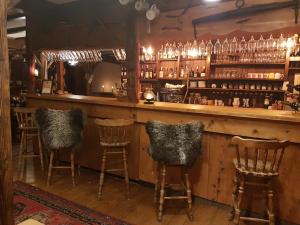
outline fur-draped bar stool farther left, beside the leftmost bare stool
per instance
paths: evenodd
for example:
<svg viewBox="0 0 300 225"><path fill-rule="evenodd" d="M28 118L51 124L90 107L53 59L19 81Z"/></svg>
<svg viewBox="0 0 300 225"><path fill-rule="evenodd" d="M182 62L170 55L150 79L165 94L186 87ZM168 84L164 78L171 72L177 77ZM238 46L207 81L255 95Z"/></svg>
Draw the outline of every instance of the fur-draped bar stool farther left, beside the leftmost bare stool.
<svg viewBox="0 0 300 225"><path fill-rule="evenodd" d="M44 147L50 152L47 185L50 184L52 169L71 169L75 185L74 151L82 140L85 115L80 109L54 110L38 109L36 120L40 128ZM55 151L70 149L71 166L53 166Z"/></svg>

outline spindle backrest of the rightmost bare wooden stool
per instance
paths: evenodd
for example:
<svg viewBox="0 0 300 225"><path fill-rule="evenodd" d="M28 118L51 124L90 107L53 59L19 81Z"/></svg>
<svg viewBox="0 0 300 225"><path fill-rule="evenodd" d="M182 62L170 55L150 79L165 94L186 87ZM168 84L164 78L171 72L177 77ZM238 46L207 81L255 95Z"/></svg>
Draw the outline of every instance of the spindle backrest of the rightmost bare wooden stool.
<svg viewBox="0 0 300 225"><path fill-rule="evenodd" d="M232 138L237 167L245 172L278 174L288 141Z"/></svg>

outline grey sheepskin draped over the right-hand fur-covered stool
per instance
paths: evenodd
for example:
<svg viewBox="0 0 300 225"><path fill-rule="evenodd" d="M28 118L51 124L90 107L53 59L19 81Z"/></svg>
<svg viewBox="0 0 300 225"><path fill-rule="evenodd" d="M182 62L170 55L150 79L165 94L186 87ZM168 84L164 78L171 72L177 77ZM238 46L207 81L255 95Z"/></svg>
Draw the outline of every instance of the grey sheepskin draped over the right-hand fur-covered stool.
<svg viewBox="0 0 300 225"><path fill-rule="evenodd" d="M192 166L201 152L201 122L166 124L149 121L146 131L150 138L149 154L156 161Z"/></svg>

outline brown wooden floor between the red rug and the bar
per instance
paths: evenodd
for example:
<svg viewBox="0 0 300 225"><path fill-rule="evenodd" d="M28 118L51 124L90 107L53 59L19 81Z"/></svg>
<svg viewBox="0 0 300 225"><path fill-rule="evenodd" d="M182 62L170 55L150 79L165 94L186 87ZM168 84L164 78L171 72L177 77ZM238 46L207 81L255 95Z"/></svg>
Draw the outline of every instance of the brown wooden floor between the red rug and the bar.
<svg viewBox="0 0 300 225"><path fill-rule="evenodd" d="M22 180L45 191L59 195L104 214L125 220L137 225L229 225L229 208L208 202L199 198L194 199L194 220L190 222L185 214L184 202L166 204L162 223L157 222L153 207L153 187L131 182L131 199L125 199L125 185L122 179L106 176L102 200L97 200L99 172L81 169L81 175L76 177L77 185L72 186L70 171L53 173L51 186L46 186L46 173L42 173L38 159L28 159L26 172L20 177L17 172L17 160L14 159L15 180ZM240 223L243 225L244 223Z"/></svg>

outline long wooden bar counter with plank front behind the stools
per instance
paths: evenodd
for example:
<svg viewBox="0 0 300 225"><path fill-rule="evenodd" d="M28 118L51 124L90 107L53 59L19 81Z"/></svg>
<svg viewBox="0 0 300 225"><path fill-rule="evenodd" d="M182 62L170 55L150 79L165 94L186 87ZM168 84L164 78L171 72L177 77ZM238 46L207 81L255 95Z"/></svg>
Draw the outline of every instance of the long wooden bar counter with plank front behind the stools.
<svg viewBox="0 0 300 225"><path fill-rule="evenodd" d="M80 108L87 115L83 147L79 153L82 166L100 169L99 146L95 118L132 118L135 132L129 149L131 179L154 183L156 164L148 156L149 144L145 131L148 120L177 123L200 120L205 125L203 152L191 169L193 193L197 196L225 203L232 202L235 151L231 137L240 135L252 138L286 139L287 148L276 188L279 197L275 203L277 215L286 221L300 222L300 114L290 111L244 109L221 106L201 106L175 103L119 102L112 98L76 95L28 95L28 106L53 109ZM112 160L109 160L111 163ZM118 162L120 162L118 160ZM118 163L116 160L116 164ZM175 173L176 171L174 171ZM171 180L173 178L171 177ZM257 204L264 205L264 204ZM257 205L248 206L259 211Z"/></svg>

